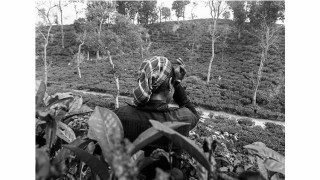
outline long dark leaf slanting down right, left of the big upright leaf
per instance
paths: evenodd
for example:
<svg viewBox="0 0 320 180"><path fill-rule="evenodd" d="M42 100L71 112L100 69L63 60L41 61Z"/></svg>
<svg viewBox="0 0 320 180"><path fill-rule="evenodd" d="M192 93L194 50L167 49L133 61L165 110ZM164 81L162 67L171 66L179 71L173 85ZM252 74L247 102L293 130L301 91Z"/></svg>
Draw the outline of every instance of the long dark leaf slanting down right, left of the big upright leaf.
<svg viewBox="0 0 320 180"><path fill-rule="evenodd" d="M81 161L86 163L92 171L97 173L101 179L109 179L109 172L108 172L108 164L100 161L95 156L89 154L85 150L80 148L70 146L70 145L63 145L63 147L71 150Z"/></svg>

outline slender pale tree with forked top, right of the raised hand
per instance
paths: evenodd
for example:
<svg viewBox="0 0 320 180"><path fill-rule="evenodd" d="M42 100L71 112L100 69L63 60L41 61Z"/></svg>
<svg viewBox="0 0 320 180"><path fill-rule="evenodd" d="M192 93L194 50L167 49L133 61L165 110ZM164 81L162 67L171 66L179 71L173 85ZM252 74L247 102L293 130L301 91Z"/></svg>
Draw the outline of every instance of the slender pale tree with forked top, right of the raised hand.
<svg viewBox="0 0 320 180"><path fill-rule="evenodd" d="M207 4L210 8L210 15L211 15L211 21L212 21L212 25L210 28L212 55L211 55L211 59L208 67L208 74L207 74L207 84L209 84L212 62L214 60L215 42L219 38L219 36L217 35L217 31L218 31L217 22L220 15L222 15L227 10L228 6L224 1L218 1L218 0L209 0Z"/></svg>

